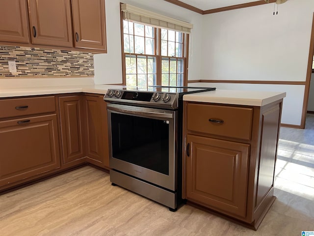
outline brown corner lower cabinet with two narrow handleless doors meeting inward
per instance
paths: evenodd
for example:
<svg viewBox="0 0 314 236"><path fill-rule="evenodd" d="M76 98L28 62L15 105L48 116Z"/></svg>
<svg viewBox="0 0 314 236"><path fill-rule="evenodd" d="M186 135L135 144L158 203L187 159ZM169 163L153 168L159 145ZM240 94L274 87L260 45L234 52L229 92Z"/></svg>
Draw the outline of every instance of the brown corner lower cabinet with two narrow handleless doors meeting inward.
<svg viewBox="0 0 314 236"><path fill-rule="evenodd" d="M90 162L109 168L106 103L103 95L60 96L62 163Z"/></svg>

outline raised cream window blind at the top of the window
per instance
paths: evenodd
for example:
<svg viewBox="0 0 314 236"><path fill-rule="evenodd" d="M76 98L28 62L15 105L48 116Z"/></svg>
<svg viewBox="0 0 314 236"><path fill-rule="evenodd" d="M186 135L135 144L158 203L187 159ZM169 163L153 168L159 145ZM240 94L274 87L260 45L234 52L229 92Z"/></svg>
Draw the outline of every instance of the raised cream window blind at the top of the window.
<svg viewBox="0 0 314 236"><path fill-rule="evenodd" d="M147 11L129 4L121 4L123 19L156 28L170 29L183 33L190 33L193 25L184 21L174 19L172 17Z"/></svg>

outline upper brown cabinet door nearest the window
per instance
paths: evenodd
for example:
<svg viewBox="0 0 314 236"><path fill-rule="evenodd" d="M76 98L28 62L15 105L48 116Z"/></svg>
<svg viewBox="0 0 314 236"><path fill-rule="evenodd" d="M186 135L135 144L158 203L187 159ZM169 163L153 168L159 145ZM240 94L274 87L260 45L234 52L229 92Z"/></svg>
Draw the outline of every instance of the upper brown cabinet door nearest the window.
<svg viewBox="0 0 314 236"><path fill-rule="evenodd" d="M105 0L72 0L76 48L106 52Z"/></svg>

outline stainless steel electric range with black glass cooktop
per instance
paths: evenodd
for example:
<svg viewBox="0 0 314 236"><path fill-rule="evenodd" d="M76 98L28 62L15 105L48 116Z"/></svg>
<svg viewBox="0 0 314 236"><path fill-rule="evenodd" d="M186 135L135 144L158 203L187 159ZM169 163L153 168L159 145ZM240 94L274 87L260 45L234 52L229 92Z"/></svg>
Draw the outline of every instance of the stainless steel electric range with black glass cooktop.
<svg viewBox="0 0 314 236"><path fill-rule="evenodd" d="M215 88L108 89L110 181L175 211L182 202L183 95Z"/></svg>

